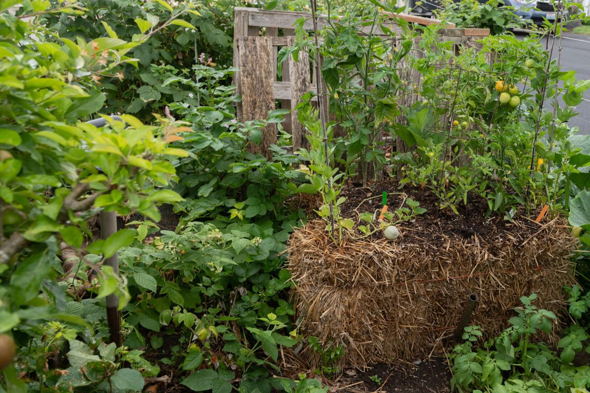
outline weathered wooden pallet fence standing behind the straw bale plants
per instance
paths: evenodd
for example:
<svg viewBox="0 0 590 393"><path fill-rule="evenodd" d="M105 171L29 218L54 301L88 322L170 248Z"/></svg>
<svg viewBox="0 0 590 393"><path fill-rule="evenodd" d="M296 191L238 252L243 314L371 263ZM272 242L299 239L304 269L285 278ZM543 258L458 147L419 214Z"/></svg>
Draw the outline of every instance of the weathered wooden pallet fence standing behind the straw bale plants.
<svg viewBox="0 0 590 393"><path fill-rule="evenodd" d="M397 16L422 25L438 22L419 16L404 14ZM281 108L291 110L291 114L286 116L283 128L293 138L293 150L305 146L305 131L301 123L297 121L296 106L302 95L308 91L317 91L314 73L311 71L312 64L306 52L299 53L298 61L289 57L281 64L280 80L278 80L277 53L278 48L294 44L294 25L298 19L307 18L303 28L308 30L313 28L311 15L305 12L237 7L234 17L234 67L240 70L235 74L234 82L238 93L242 96L241 103L237 105L238 118L242 121L262 120L267 117L268 111L276 109L278 100ZM326 24L326 19L318 20L319 28ZM394 19L388 28L400 34L402 32ZM445 28L440 30L441 41L453 41L457 46L487 35L489 35L489 29ZM419 73L409 67L405 68L401 71L402 79L410 85L419 85ZM411 105L417 98L416 94L408 95L403 104ZM276 142L276 126L268 124L263 130L261 143L251 146L251 151L271 157L272 152L268 150L268 147Z"/></svg>

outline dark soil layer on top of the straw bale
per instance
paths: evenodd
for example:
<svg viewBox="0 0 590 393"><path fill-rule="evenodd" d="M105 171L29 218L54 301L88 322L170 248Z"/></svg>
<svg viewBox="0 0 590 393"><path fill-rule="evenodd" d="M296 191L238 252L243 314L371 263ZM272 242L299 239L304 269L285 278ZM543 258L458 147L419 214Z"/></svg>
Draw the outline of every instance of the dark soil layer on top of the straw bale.
<svg viewBox="0 0 590 393"><path fill-rule="evenodd" d="M419 202L420 207L427 210L424 214L416 216L415 222L398 224L403 236L397 242L401 244L430 242L436 245L444 242L442 235L467 239L477 234L477 236L486 239L500 236L506 230L510 230L510 226L512 226L497 213L486 217L489 210L487 201L478 194L469 195L467 206L460 202L457 205L459 214L455 214L449 207L441 209L440 201L430 190L411 187L398 189L398 185L393 180L373 183L368 187L361 187L360 184L355 183L348 184L341 193L346 197L346 202L340 207L340 213L343 217L353 219L355 222L359 220L359 214L363 212L372 214L378 211L376 214L379 215L382 208L383 191L388 194L388 212L394 214L394 219L396 219L396 209L401 206L408 207L407 204L404 204L407 197ZM517 217L517 214L514 218ZM360 224L366 223L361 221ZM360 234L358 232L358 235ZM371 236L373 240L377 240L383 237L383 233L378 231Z"/></svg>

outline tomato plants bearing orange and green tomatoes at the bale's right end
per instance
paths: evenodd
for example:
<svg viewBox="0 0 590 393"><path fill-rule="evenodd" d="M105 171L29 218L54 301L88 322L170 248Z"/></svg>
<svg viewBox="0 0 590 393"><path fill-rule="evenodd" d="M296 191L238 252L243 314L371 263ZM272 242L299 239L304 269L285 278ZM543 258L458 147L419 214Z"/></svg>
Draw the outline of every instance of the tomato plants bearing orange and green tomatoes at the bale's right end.
<svg viewBox="0 0 590 393"><path fill-rule="evenodd" d="M455 55L448 43L438 41L435 29L427 29L420 45L425 55L413 65L422 74L424 100L402 108L408 124L395 127L415 148L394 158L404 165L402 184L428 187L441 209L455 213L458 205L467 205L470 193L487 199L489 214L503 214L506 220L521 207L527 214L543 204L567 211L571 184L582 186L586 179L582 167L588 153L574 147L585 146L586 137L573 136L578 130L566 121L575 115L571 105L588 83L576 82L572 71L560 71L556 60L547 73L546 52L529 38L488 37L481 40L481 50L463 48ZM432 46L437 51L430 51ZM490 64L487 53L496 53L498 60ZM450 62L461 70L444 67ZM499 104L499 83L520 84L513 94L520 97L518 107ZM545 102L551 104L539 114L545 85ZM560 95L572 100L555 106Z"/></svg>

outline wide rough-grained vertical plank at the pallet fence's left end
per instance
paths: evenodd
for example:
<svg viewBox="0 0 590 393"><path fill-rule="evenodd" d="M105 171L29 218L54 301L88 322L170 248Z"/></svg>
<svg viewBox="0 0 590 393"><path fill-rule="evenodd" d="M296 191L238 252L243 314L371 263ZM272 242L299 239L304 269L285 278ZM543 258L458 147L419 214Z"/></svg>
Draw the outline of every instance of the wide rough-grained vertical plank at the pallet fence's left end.
<svg viewBox="0 0 590 393"><path fill-rule="evenodd" d="M238 93L242 95L241 121L264 120L268 111L274 109L274 74L273 44L270 37L240 37L240 84ZM271 144L277 143L277 128L268 124L262 130L260 144L248 144L251 153L263 154L272 158L273 152L268 150Z"/></svg>

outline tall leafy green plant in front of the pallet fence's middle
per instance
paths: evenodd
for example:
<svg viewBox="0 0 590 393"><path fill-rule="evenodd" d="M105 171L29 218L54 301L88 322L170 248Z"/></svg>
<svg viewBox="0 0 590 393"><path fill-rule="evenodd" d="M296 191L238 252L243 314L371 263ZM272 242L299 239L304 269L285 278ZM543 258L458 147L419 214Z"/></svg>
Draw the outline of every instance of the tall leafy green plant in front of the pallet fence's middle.
<svg viewBox="0 0 590 393"><path fill-rule="evenodd" d="M330 2L327 6L330 11ZM396 68L412 45L409 34L398 40L397 33L388 27L383 8L389 11L377 3L364 2L362 9L350 3L340 10L343 15L318 32L323 39L319 48L321 72L328 88L330 113L345 135L335 143L333 154L345 166L345 173L358 173L365 186L385 163L379 136L391 131L399 115L396 101L405 88ZM283 55L295 56L299 50L314 48L313 38L301 28L303 22L300 19L297 45L283 49ZM396 19L396 23L404 32L409 31L403 19ZM361 24L368 34L359 31ZM383 45L390 40L395 40L395 46ZM315 53L313 49L310 52Z"/></svg>

